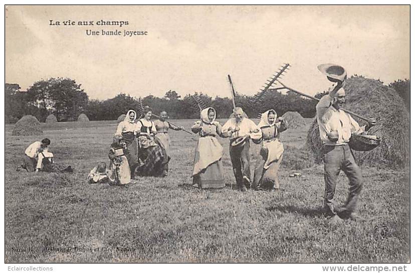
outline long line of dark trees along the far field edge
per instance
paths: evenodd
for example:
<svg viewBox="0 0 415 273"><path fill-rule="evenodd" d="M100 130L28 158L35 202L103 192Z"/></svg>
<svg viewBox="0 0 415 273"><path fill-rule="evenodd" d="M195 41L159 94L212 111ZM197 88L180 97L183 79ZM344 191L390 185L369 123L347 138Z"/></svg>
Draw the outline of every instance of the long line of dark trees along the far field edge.
<svg viewBox="0 0 415 273"><path fill-rule="evenodd" d="M401 95L409 107L409 80L397 80L390 84ZM327 91L319 92L320 98ZM199 108L192 96L197 96L203 106L217 110L218 118L227 118L232 113L232 100L228 97L211 97L202 92L181 97L176 91L168 90L163 97L153 95L141 99L154 113L167 111L170 118L198 118ZM287 111L297 111L303 117L314 117L316 101L295 92L269 91L261 103L253 103L254 96L236 93L237 106L243 107L250 117L257 117L267 109L275 109L278 115ZM22 116L31 114L44 122L49 114L58 121L74 121L85 113L90 120L115 120L129 109L138 110L140 99L120 92L115 97L98 100L89 99L81 84L71 78L49 78L36 81L27 90L21 90L17 83L5 84L6 123L15 123Z"/></svg>

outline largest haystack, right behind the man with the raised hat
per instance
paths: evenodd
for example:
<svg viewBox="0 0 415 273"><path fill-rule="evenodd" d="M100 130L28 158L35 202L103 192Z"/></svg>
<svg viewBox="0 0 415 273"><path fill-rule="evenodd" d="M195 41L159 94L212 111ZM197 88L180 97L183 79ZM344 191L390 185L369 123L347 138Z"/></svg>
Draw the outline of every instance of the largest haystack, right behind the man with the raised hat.
<svg viewBox="0 0 415 273"><path fill-rule="evenodd" d="M348 78L345 82L345 108L365 117L373 116L377 125L368 133L382 138L380 145L371 151L354 151L360 164L391 166L409 164L409 113L402 98L392 88L375 79L362 76ZM360 125L363 121L354 117ZM310 125L307 143L319 154L321 140L316 121Z"/></svg>

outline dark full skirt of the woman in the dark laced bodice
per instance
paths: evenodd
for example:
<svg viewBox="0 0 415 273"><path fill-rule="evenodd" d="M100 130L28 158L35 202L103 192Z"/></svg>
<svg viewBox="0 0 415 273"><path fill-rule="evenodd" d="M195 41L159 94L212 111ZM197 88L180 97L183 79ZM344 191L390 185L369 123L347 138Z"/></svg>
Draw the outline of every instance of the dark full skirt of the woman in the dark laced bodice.
<svg viewBox="0 0 415 273"><path fill-rule="evenodd" d="M161 177L167 175L168 157L162 146L155 145L141 148L139 159L141 164L135 170L136 175Z"/></svg>

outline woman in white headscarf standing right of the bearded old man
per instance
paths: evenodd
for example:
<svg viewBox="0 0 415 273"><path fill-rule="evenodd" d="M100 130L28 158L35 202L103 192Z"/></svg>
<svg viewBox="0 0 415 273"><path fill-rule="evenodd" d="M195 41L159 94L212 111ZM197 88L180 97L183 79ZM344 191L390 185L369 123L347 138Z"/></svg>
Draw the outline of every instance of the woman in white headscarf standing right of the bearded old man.
<svg viewBox="0 0 415 273"><path fill-rule="evenodd" d="M252 187L276 190L279 188L278 169L284 152L280 132L288 128L288 123L282 117L277 118L277 112L271 109L262 113L258 127L262 130L262 146Z"/></svg>

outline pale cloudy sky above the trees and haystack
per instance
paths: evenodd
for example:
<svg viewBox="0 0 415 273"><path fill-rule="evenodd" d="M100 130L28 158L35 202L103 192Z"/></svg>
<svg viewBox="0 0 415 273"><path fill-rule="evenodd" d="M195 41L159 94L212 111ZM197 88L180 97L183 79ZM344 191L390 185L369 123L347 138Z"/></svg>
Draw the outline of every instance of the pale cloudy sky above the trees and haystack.
<svg viewBox="0 0 415 273"><path fill-rule="evenodd" d="M101 19L128 25L50 23ZM70 77L96 99L161 97L170 89L229 97L228 74L236 91L252 95L290 63L282 82L315 94L331 86L317 70L321 63L386 84L409 78L409 41L409 5L8 5L6 82L25 90L40 79Z"/></svg>

